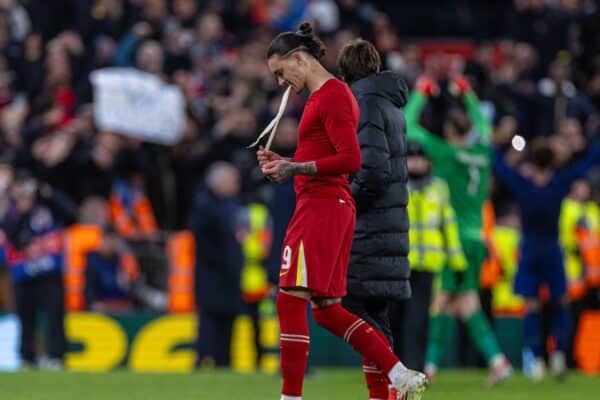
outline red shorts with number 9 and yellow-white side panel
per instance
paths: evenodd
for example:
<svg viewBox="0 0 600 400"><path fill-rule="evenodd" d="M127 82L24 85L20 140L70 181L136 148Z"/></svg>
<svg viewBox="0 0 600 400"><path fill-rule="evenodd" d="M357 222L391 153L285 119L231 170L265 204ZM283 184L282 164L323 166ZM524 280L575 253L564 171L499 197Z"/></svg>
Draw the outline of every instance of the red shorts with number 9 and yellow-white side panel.
<svg viewBox="0 0 600 400"><path fill-rule="evenodd" d="M349 200L298 199L283 241L279 286L307 288L315 297L343 297L355 223Z"/></svg>

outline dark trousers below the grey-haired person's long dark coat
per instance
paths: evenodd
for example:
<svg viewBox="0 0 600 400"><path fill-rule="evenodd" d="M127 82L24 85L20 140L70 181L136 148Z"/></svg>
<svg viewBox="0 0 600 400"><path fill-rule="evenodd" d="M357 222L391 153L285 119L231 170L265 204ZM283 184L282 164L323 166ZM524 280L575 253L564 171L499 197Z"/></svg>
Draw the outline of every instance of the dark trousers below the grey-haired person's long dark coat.
<svg viewBox="0 0 600 400"><path fill-rule="evenodd" d="M198 366L225 367L231 364L231 336L234 319L234 314L200 310L198 340L196 341Z"/></svg>

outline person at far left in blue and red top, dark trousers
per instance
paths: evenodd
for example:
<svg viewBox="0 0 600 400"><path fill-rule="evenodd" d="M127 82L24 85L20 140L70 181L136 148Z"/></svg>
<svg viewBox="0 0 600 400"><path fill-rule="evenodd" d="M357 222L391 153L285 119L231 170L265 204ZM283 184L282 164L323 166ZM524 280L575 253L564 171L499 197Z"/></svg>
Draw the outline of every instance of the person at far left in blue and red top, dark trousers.
<svg viewBox="0 0 600 400"><path fill-rule="evenodd" d="M65 352L62 282L63 229L74 221L74 207L60 193L26 171L10 187L14 207L2 221L3 251L14 282L21 322L21 358L25 366L61 368ZM47 361L35 354L37 313L48 321Z"/></svg>

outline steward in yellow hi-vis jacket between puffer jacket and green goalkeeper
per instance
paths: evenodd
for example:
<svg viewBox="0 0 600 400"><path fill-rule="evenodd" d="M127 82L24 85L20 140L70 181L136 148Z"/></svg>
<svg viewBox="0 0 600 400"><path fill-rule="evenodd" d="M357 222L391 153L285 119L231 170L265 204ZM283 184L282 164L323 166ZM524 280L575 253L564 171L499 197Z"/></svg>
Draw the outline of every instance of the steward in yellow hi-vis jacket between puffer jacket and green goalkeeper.
<svg viewBox="0 0 600 400"><path fill-rule="evenodd" d="M396 354L408 367L422 371L425 364L429 306L434 278L444 268L460 275L467 268L446 182L431 174L431 162L417 142L407 143L408 259L411 298L392 307Z"/></svg>

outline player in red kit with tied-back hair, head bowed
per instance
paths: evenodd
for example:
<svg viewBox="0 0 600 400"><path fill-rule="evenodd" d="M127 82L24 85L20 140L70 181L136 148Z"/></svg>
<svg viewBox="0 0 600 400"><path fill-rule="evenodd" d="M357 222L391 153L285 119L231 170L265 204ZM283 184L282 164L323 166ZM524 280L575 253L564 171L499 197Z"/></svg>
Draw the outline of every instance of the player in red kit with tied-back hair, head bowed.
<svg viewBox="0 0 600 400"><path fill-rule="evenodd" d="M425 375L407 369L381 334L340 304L356 212L348 175L360 169L359 110L350 88L319 62L323 43L305 22L271 42L269 69L279 85L308 89L293 159L260 149L258 160L273 182L294 178L296 210L283 243L277 312L280 325L281 400L301 400L310 343L307 305L317 324L343 338L384 371L400 399L420 399ZM386 399L383 399L386 400Z"/></svg>

